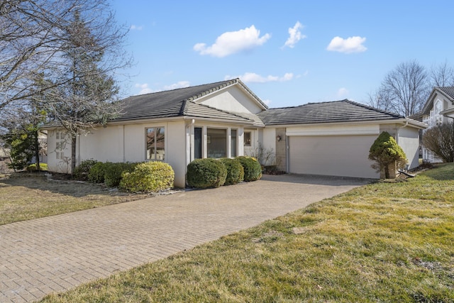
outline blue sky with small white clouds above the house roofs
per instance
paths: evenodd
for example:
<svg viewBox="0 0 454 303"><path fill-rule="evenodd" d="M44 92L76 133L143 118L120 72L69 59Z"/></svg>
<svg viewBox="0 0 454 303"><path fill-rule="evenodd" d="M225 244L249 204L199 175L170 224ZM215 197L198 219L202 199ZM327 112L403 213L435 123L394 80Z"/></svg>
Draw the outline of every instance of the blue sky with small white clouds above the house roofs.
<svg viewBox="0 0 454 303"><path fill-rule="evenodd" d="M454 1L114 0L126 96L240 77L271 108L366 103L409 60L454 65Z"/></svg>

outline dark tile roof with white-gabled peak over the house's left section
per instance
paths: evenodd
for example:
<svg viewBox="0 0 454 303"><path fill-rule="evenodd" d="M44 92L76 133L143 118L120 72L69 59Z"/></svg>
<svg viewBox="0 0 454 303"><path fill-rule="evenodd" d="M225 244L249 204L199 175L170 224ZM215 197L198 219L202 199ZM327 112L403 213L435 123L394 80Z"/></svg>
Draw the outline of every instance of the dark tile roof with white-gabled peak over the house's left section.
<svg viewBox="0 0 454 303"><path fill-rule="evenodd" d="M197 104L194 100L211 94L219 89L239 83L246 92L255 98L264 108L262 101L246 87L240 79L197 85L165 92L142 94L128 97L120 101L122 114L115 121L130 121L142 119L170 118L177 116L194 116L201 118L226 119L230 121L251 123L253 119L238 114L228 113L218 109Z"/></svg>

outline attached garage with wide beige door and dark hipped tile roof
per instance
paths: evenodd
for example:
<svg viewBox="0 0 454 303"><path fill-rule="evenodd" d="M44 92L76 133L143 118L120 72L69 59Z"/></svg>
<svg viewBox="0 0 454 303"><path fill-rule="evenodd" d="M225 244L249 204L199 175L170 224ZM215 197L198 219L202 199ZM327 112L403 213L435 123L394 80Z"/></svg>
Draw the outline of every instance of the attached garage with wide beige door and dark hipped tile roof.
<svg viewBox="0 0 454 303"><path fill-rule="evenodd" d="M275 141L270 148L276 150L279 168L307 175L380 178L368 157L382 131L394 136L409 168L414 168L419 165L419 130L426 128L424 123L349 100L269 109L258 116L268 128L267 142Z"/></svg>

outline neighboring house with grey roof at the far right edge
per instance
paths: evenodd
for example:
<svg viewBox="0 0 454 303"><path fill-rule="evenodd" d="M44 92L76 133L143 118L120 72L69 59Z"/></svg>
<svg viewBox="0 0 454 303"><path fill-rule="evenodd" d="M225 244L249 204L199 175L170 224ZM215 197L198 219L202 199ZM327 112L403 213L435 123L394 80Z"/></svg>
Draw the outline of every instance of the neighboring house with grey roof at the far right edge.
<svg viewBox="0 0 454 303"><path fill-rule="evenodd" d="M428 128L454 119L454 87L434 87L422 111L422 121ZM423 135L424 136L424 135ZM427 162L443 162L431 150L422 147L423 160Z"/></svg>

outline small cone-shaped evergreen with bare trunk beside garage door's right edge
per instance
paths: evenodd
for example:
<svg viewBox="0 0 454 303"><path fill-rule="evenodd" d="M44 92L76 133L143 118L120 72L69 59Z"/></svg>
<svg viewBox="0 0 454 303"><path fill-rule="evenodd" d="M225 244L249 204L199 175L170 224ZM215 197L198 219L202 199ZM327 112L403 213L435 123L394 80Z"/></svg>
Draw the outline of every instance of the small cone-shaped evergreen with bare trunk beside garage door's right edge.
<svg viewBox="0 0 454 303"><path fill-rule="evenodd" d="M407 162L404 150L387 131L380 133L370 147L369 159L375 161L371 166L377 172L384 169L384 177L387 179L389 179L389 165L396 163L398 168L403 168Z"/></svg>

